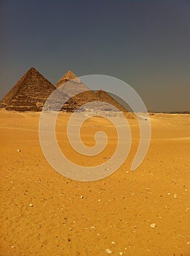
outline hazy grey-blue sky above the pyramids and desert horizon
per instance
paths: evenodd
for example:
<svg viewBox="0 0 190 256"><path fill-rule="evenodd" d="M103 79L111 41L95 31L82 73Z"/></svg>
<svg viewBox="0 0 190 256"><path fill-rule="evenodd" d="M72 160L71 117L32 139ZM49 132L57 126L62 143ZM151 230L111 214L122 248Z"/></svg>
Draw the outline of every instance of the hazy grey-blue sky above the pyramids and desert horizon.
<svg viewBox="0 0 190 256"><path fill-rule="evenodd" d="M2 0L0 99L35 67L111 75L152 111L190 110L190 1Z"/></svg>

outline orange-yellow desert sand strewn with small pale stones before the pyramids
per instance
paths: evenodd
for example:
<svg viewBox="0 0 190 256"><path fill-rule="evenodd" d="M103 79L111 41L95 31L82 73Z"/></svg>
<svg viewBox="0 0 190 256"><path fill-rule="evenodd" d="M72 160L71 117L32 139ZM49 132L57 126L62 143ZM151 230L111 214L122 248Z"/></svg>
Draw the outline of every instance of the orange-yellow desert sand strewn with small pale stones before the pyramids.
<svg viewBox="0 0 190 256"><path fill-rule="evenodd" d="M103 154L86 159L68 145L68 118L60 115L57 124L64 154L80 165L111 157L116 132L107 121L85 122L82 140L88 146L96 129L111 137ZM190 255L189 115L151 116L149 152L133 172L139 129L130 119L126 162L93 182L70 180L50 167L39 145L39 113L0 110L0 120L1 256Z"/></svg>

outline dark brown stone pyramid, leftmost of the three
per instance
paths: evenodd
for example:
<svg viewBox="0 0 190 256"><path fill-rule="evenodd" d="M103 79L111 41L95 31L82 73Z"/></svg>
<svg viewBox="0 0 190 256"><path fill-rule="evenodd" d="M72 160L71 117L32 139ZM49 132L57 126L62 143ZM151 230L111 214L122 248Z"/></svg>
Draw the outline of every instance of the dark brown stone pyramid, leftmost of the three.
<svg viewBox="0 0 190 256"><path fill-rule="evenodd" d="M15 111L41 111L55 86L33 67L1 100L0 107Z"/></svg>

